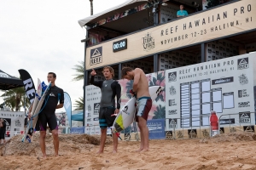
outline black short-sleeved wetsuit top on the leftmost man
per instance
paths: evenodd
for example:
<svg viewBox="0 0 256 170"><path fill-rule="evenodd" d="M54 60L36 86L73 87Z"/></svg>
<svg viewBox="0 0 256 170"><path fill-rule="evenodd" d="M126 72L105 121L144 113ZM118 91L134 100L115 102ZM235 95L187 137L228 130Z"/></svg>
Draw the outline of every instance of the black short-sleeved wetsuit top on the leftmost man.
<svg viewBox="0 0 256 170"><path fill-rule="evenodd" d="M59 101L60 101L60 104L64 103L63 90L56 86L50 87L49 92L44 99L44 103L46 102L46 105L43 104L43 106L42 106L42 107L44 107L43 111L47 112L47 113L55 113L55 109L56 109L56 106L58 105Z"/></svg>

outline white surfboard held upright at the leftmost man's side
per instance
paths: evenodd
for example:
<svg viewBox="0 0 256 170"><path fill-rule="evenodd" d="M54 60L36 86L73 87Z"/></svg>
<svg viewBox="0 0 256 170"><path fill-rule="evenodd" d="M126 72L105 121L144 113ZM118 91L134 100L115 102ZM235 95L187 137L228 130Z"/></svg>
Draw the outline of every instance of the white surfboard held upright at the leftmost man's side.
<svg viewBox="0 0 256 170"><path fill-rule="evenodd" d="M42 94L42 83L40 83L40 84L41 84L41 91L40 91L40 94ZM46 99L46 96L47 96L47 94L48 94L48 91L49 91L50 86L51 86L51 84L50 84L50 82L49 82L49 85L48 85L48 87L45 89L44 94L42 94L41 97L38 97L38 105L36 105L35 110L33 111L34 108L32 108L32 111L33 111L33 112L31 113L31 115L32 115L32 121L30 121L30 122L32 122L32 124L29 123L30 126L27 127L27 132L24 134L24 136L23 136L23 138L22 138L22 142L25 141L26 136L27 136L27 133L29 133L30 130L31 130L32 133L33 133L33 130L34 130L34 128L36 127L36 124L37 124L37 122L38 122L38 114L40 114L40 111L41 111L41 109L42 109L42 105L44 104L44 99ZM38 92L39 92L39 90L38 90ZM38 95L39 95L39 94L38 94Z"/></svg>

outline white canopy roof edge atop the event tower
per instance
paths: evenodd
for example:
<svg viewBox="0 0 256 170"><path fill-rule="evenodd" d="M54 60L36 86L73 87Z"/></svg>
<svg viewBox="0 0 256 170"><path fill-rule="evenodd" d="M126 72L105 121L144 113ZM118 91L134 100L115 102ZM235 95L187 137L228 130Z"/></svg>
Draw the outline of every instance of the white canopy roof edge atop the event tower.
<svg viewBox="0 0 256 170"><path fill-rule="evenodd" d="M139 3L139 2L148 2L148 0L128 0L128 1L125 1L125 3L121 3L121 4L119 4L119 5L117 5L117 6L113 7L113 8L108 8L107 10L104 10L101 13L90 15L90 16L82 19L82 20L79 20L79 25L81 27L83 27L87 23L89 23L91 20L95 20L96 18L101 17L103 14L108 14L108 13L111 13L111 12L112 12L111 14L113 14L113 11L116 10L116 9L125 7L127 5L132 4L132 3ZM109 14L109 15L111 15L111 14Z"/></svg>

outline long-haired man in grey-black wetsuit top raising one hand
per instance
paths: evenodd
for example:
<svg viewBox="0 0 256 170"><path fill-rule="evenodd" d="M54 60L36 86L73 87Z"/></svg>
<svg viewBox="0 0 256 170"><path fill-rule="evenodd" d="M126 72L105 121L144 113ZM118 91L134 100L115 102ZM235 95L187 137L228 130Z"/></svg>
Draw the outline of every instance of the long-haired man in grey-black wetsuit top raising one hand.
<svg viewBox="0 0 256 170"><path fill-rule="evenodd" d="M113 126L114 119L119 114L120 104L119 99L121 95L121 86L119 82L113 80L113 68L111 66L105 66L102 71L105 81L94 81L96 71L92 69L90 75L90 84L101 88L102 99L99 112L99 122L101 127L101 144L99 154L103 153L104 144L107 139L107 129ZM115 108L115 96L117 97L117 105ZM118 136L113 134L113 153L117 152Z"/></svg>

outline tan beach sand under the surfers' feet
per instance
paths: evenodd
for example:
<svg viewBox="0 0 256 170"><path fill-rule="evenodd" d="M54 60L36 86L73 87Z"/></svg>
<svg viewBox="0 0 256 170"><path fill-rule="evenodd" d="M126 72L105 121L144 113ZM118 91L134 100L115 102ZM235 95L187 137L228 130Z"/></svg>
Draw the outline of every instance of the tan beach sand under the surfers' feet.
<svg viewBox="0 0 256 170"><path fill-rule="evenodd" d="M1 146L0 169L256 169L254 133L221 134L212 139L150 140L150 150L136 153L139 141L119 141L112 154L112 139L97 155L99 136L60 134L60 156L54 156L52 137L47 135L41 156L38 134L33 142L21 143L15 136Z"/></svg>

